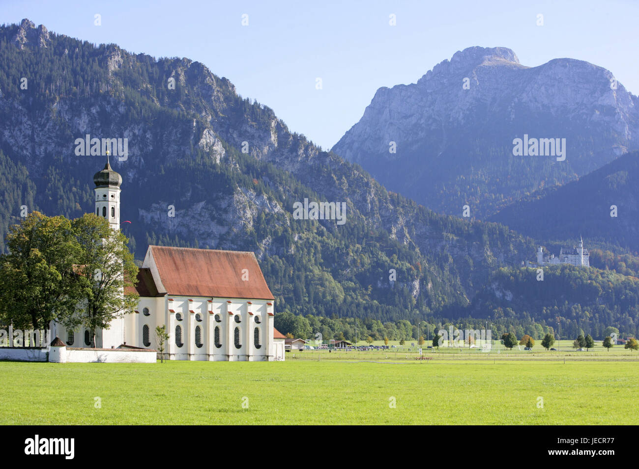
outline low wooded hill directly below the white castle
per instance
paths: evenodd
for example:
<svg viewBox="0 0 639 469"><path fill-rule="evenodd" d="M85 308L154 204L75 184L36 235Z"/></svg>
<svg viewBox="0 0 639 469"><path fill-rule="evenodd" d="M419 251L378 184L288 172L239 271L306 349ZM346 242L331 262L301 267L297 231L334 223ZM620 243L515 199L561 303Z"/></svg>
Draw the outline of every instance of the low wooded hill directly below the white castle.
<svg viewBox="0 0 639 469"><path fill-rule="evenodd" d="M573 265L544 267L543 280L538 279L536 269L499 269L467 313L547 324L568 337L585 332L603 339L609 326L617 327L622 336L636 336L639 279Z"/></svg>

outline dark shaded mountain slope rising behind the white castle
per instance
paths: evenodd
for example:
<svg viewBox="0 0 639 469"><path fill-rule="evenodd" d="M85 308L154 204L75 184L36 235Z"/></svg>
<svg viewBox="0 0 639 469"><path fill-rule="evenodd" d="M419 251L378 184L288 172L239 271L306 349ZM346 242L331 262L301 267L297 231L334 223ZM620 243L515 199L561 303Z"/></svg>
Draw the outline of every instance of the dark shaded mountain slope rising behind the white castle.
<svg viewBox="0 0 639 469"><path fill-rule="evenodd" d="M537 239L603 242L639 251L639 152L578 181L537 191L490 220ZM616 207L613 207L613 205ZM617 216L614 215L616 211Z"/></svg>

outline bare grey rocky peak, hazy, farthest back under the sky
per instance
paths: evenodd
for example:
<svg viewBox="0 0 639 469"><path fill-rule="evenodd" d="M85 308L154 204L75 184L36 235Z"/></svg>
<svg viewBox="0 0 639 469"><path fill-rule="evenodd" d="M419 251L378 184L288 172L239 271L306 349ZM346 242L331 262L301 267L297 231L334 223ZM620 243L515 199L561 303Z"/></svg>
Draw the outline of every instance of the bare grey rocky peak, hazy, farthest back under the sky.
<svg viewBox="0 0 639 469"><path fill-rule="evenodd" d="M587 62L530 68L508 48L470 47L416 84L378 89L332 151L431 209L485 218L638 149L637 100ZM514 156L524 135L566 138L566 159Z"/></svg>

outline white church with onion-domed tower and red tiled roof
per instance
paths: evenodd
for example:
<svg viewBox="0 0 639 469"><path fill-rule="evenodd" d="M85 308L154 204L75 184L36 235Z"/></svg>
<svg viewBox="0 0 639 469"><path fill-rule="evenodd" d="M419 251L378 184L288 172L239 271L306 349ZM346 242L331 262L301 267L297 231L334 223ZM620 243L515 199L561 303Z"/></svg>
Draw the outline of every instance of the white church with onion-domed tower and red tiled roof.
<svg viewBox="0 0 639 469"><path fill-rule="evenodd" d="M93 181L96 215L119 230L121 175L107 161ZM166 325L165 359L284 360L284 336L273 327L273 294L252 252L149 246L135 292L135 313L96 331L96 347L157 350L155 328ZM54 327L66 346L90 345L89 331Z"/></svg>

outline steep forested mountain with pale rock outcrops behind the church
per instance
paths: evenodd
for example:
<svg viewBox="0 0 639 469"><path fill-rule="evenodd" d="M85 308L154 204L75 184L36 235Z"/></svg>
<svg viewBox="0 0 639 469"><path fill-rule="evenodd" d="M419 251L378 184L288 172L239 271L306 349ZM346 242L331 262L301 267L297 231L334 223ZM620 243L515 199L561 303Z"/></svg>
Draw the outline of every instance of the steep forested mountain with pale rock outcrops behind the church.
<svg viewBox="0 0 639 469"><path fill-rule="evenodd" d="M0 28L3 230L22 204L93 211L106 158L78 154L87 134L128 139L127 159L112 153L111 165L137 258L151 242L255 251L278 311L390 319L463 306L491 272L534 252L504 227L388 193L201 63L96 46L29 20ZM346 203L346 223L295 220L305 198Z"/></svg>

